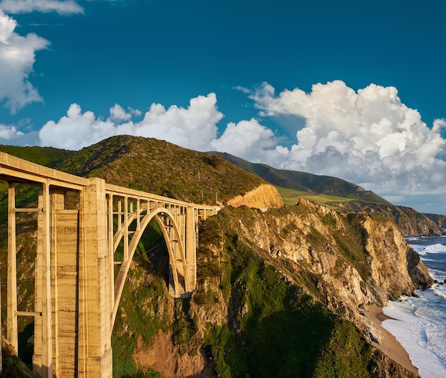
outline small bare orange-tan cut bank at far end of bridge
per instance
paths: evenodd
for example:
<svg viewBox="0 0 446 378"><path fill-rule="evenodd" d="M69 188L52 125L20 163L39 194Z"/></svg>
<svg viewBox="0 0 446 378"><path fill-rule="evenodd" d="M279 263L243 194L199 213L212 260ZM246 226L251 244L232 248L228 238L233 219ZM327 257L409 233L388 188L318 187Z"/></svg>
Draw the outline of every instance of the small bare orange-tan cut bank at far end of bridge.
<svg viewBox="0 0 446 378"><path fill-rule="evenodd" d="M274 208L283 206L284 201L273 185L262 184L244 195L237 195L237 197L228 200L227 205L234 206L234 208L242 205L249 208Z"/></svg>

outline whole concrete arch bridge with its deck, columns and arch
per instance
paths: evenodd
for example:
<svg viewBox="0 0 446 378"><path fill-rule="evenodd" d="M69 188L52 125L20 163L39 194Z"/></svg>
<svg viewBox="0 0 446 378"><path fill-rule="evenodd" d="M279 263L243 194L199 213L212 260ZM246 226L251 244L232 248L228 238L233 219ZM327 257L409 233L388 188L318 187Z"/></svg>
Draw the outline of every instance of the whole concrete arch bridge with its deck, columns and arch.
<svg viewBox="0 0 446 378"><path fill-rule="evenodd" d="M125 279L150 220L169 254L168 289L189 297L197 277L197 223L217 206L195 205L81 178L0 153L8 183L6 339L18 352L18 317L34 318L33 370L41 377L112 377L111 334ZM17 185L38 188L36 205L16 206ZM18 213L36 213L34 303L19 310Z"/></svg>

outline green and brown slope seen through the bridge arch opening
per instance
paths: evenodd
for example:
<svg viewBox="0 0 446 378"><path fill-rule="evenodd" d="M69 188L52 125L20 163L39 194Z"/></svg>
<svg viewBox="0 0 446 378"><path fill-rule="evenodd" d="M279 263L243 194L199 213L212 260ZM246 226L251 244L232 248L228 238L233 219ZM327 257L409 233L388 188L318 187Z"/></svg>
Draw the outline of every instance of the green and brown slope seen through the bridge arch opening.
<svg viewBox="0 0 446 378"><path fill-rule="evenodd" d="M167 247L160 227L153 220L135 251L113 328L115 377L138 377L140 372L133 360L138 339L142 337L150 343L159 330L169 327L172 304L165 284L166 255ZM139 305L135 306L135 303Z"/></svg>

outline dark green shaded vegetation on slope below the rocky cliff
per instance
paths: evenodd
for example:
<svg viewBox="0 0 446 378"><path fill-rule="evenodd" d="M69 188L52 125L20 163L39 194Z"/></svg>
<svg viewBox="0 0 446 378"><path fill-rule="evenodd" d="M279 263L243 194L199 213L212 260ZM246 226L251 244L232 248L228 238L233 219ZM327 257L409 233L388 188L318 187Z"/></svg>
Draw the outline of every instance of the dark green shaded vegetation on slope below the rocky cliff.
<svg viewBox="0 0 446 378"><path fill-rule="evenodd" d="M243 212L235 211L235 217ZM200 237L219 235L224 248L218 260L226 262L221 280L230 287L229 322L209 330L204 343L218 376L369 377L372 348L358 330L242 241L231 226L234 219L214 218L202 226ZM207 258L200 253L199 261Z"/></svg>

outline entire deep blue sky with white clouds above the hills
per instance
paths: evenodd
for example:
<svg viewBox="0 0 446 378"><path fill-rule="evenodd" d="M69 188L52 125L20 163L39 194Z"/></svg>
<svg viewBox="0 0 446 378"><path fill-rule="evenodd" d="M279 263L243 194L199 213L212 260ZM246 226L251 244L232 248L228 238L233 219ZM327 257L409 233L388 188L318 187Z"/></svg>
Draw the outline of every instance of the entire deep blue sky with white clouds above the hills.
<svg viewBox="0 0 446 378"><path fill-rule="evenodd" d="M0 0L0 144L130 134L446 214L439 0Z"/></svg>

